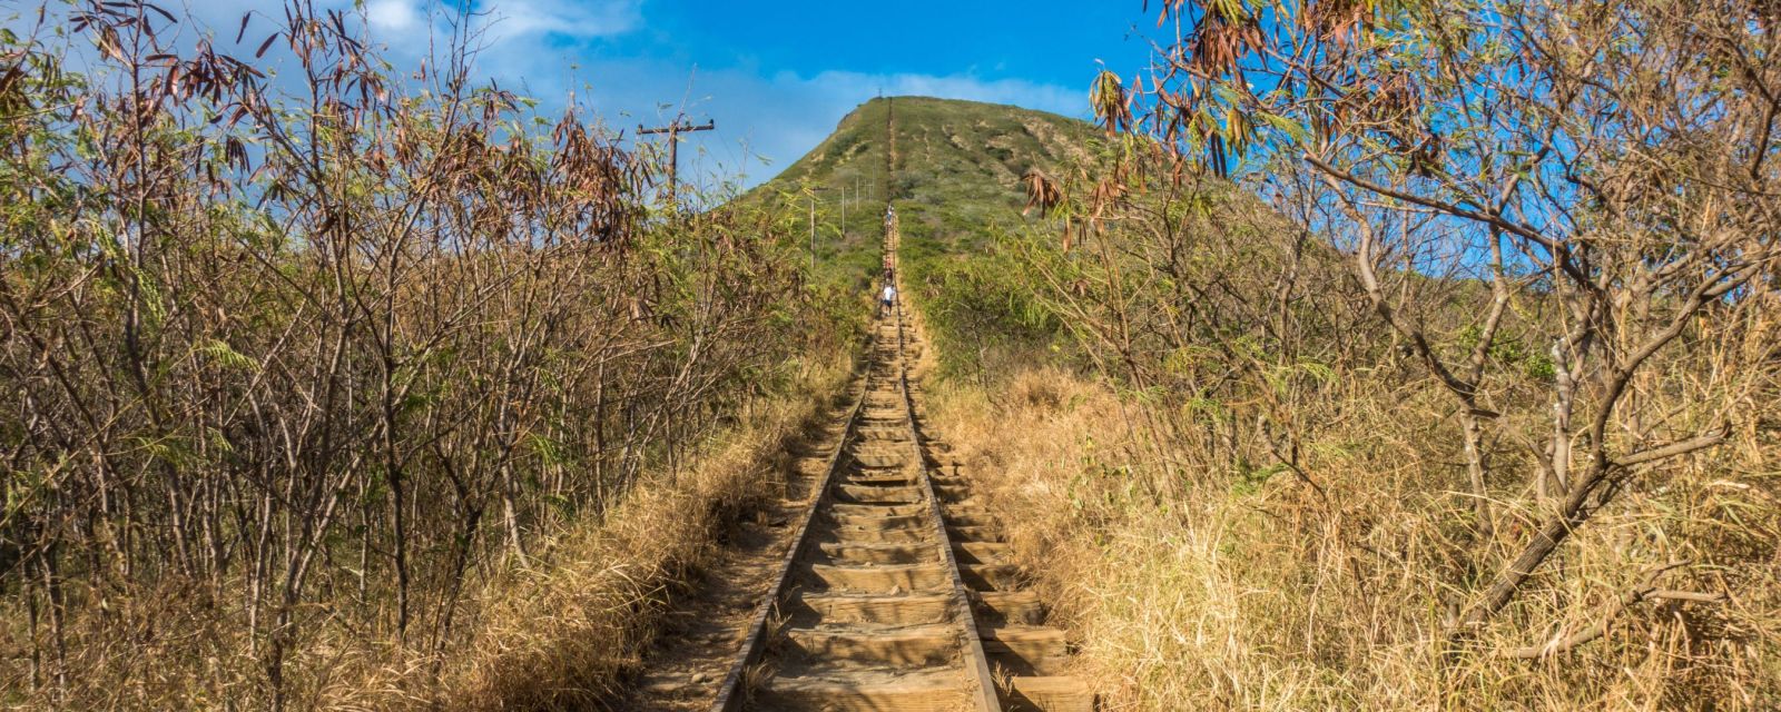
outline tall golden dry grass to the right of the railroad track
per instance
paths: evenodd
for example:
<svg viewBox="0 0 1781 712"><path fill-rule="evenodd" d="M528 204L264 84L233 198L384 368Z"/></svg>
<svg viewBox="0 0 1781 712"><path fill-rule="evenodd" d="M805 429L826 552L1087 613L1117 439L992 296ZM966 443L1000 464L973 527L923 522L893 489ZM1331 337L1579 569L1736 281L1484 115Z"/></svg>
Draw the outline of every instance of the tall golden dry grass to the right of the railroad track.
<svg viewBox="0 0 1781 712"><path fill-rule="evenodd" d="M1350 402L1313 457L1330 504L1289 477L1152 500L1133 406L1054 368L990 388L930 383L935 422L1038 571L1108 710L1776 708L1774 441L1688 463L1583 529L1526 603L1446 657L1453 497L1437 452L1395 422L1414 404ZM1184 457L1190 457L1186 454ZM1642 605L1605 639L1546 662L1496 651L1582 625L1653 561L1724 605Z"/></svg>

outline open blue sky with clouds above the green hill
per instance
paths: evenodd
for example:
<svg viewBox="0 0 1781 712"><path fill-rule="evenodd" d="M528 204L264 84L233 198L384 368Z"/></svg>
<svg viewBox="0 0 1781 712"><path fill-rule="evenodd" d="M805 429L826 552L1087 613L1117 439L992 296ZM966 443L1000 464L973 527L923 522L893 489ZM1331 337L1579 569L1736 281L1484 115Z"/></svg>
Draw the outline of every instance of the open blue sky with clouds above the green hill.
<svg viewBox="0 0 1781 712"><path fill-rule="evenodd" d="M399 64L451 18L427 0L358 2ZM192 0L191 11L233 28L256 7L278 5ZM1149 55L1133 28L1154 28L1143 0L477 0L474 11L486 23L477 71L545 107L573 91L627 134L682 107L716 119L718 132L682 144L684 178L703 185L771 178L878 93L1086 116L1097 61L1131 77Z"/></svg>

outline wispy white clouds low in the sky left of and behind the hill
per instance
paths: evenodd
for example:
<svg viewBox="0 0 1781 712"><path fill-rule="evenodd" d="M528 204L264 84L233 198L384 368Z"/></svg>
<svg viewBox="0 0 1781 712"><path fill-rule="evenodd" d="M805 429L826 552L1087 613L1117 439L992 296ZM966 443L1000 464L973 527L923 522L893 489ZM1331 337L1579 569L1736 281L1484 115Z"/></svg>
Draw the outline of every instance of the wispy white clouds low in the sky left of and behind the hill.
<svg viewBox="0 0 1781 712"><path fill-rule="evenodd" d="M319 0L319 5L351 11L354 0ZM251 55L271 32L274 18L281 16L276 7L272 0L187 0L187 11L216 30L221 46L242 55ZM365 0L360 7L372 43L386 46L397 68L413 68L431 52L433 37L449 37L458 5L456 0ZM682 109L696 121L716 119L718 130L689 135L684 146L689 151L680 155L682 176L703 185L737 178L755 185L771 178L816 148L853 107L878 94L1086 114L1086 78L1081 87L1060 87L983 78L972 71L800 75L762 73L753 66L695 71L691 64L647 55L588 59L598 43L647 27L643 0L476 0L472 7L476 25L486 30L474 66L477 78L531 94L545 116L561 112L573 93L597 119L627 134L638 123L668 121ZM235 46L235 28L248 11L258 18ZM289 61L274 46L262 64Z"/></svg>

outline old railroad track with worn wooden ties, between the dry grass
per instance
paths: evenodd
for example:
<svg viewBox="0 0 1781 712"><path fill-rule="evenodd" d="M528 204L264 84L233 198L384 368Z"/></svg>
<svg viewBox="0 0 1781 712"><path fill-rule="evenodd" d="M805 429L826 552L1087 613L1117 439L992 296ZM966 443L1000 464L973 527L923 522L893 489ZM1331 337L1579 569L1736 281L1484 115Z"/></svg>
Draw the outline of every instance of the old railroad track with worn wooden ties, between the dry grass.
<svg viewBox="0 0 1781 712"><path fill-rule="evenodd" d="M987 511L923 433L901 315L755 611L714 712L1090 712L1063 632L1021 589Z"/></svg>

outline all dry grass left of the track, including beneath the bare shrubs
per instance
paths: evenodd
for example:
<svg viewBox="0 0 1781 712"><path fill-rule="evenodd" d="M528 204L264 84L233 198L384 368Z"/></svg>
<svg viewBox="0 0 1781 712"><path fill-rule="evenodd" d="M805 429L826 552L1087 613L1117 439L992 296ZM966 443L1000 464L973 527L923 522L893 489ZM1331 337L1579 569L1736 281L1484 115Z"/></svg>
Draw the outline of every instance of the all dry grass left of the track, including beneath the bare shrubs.
<svg viewBox="0 0 1781 712"><path fill-rule="evenodd" d="M481 577L458 603L458 632L424 653L340 623L296 641L287 662L294 707L329 710L606 708L654 641L679 586L711 561L727 529L784 488L787 443L821 418L848 377L842 363L809 368L794 395L755 402L679 472L657 466L604 518L570 522L529 562ZM239 635L239 600L208 584L166 584L157 595L112 593L107 611L69 616L68 655L87 673L69 694L28 680L0 685L0 708L233 708L264 694L251 641ZM376 593L376 591L374 591ZM347 611L342 598L324 609ZM23 611L7 603L7 621ZM429 635L435 632L427 632ZM0 630L0 651L25 657L21 630ZM12 669L21 669L16 666Z"/></svg>

